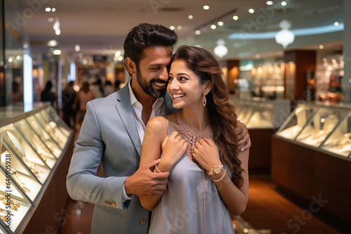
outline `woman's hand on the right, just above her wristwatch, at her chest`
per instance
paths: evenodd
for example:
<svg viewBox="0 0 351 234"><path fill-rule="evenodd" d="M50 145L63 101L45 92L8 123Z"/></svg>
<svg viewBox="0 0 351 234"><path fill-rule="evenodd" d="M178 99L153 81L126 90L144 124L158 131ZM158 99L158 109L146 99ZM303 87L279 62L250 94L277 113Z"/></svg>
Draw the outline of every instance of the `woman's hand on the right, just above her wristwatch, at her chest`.
<svg viewBox="0 0 351 234"><path fill-rule="evenodd" d="M197 160L202 167L208 172L220 163L218 149L216 144L211 139L199 139L199 142L195 143L195 147L192 153L192 157Z"/></svg>

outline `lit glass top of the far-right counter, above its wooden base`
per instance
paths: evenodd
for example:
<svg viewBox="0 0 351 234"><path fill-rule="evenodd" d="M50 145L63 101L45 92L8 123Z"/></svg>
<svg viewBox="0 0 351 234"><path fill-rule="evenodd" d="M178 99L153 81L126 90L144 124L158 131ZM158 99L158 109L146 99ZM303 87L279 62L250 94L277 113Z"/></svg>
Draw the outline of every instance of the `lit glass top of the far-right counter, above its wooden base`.
<svg viewBox="0 0 351 234"><path fill-rule="evenodd" d="M336 156L350 158L351 107L299 104L276 135Z"/></svg>

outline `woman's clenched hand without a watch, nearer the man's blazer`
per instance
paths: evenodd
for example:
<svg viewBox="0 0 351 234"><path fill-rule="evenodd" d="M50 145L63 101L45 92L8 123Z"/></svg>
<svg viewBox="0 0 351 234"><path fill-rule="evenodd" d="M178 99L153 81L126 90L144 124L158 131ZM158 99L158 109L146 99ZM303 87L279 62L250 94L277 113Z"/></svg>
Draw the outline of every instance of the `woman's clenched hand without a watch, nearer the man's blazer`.
<svg viewBox="0 0 351 234"><path fill-rule="evenodd" d="M171 136L166 136L162 142L162 158L159 163L161 172L170 172L187 150L187 142L180 137L178 132L172 132Z"/></svg>

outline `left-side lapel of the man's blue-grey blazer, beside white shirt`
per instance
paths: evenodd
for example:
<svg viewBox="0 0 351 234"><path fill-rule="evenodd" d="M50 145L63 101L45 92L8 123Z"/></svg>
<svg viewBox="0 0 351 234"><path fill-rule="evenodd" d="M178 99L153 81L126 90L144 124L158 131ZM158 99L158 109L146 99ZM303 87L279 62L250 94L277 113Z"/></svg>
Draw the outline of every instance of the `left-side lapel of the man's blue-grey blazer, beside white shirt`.
<svg viewBox="0 0 351 234"><path fill-rule="evenodd" d="M136 128L134 116L133 116L133 108L131 106L131 97L129 95L128 83L124 85L124 88L121 88L117 92L117 103L116 109L119 113L119 117L121 118L124 128L128 132L129 137L131 137L131 141L134 144L135 149L138 151L139 156L141 153L141 142L138 134L138 129Z"/></svg>

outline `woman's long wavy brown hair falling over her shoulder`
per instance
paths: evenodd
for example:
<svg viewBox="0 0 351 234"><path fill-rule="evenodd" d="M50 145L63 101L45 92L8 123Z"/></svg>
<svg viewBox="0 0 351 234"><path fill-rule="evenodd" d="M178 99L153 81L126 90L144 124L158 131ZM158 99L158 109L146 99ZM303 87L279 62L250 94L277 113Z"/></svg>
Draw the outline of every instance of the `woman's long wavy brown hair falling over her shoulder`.
<svg viewBox="0 0 351 234"><path fill-rule="evenodd" d="M180 46L173 55L174 60L184 60L192 71L200 78L201 84L211 82L211 91L206 95L208 116L213 129L220 161L232 172L233 183L240 188L243 184L241 161L237 158L239 146L234 129L237 127L235 108L229 103L229 92L223 82L223 71L211 53L195 46Z"/></svg>

